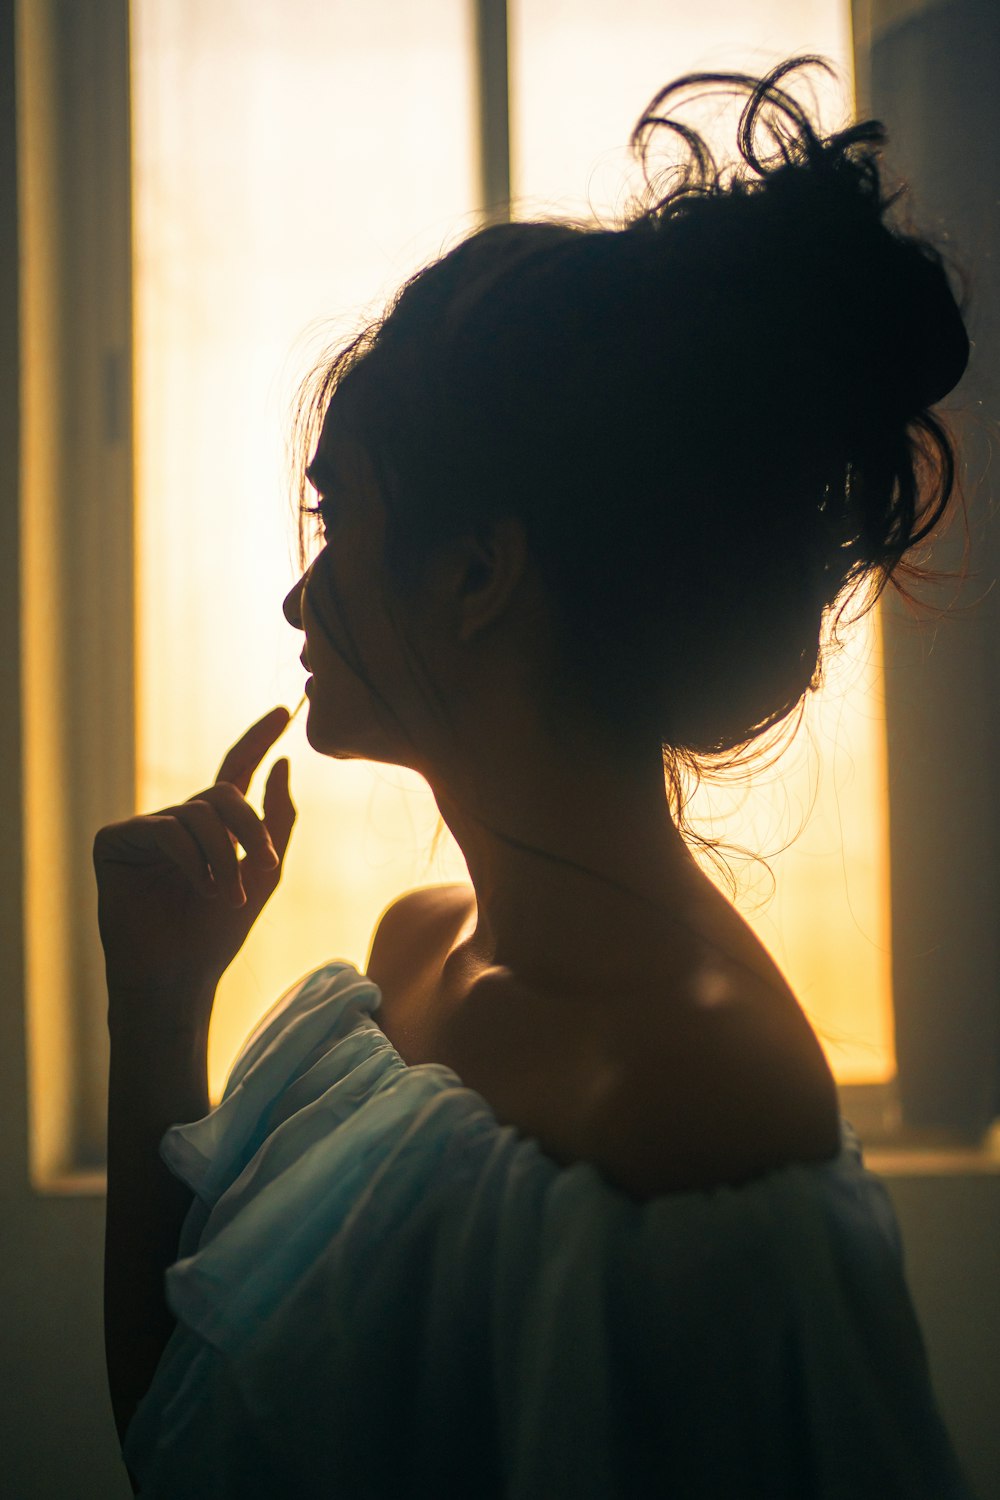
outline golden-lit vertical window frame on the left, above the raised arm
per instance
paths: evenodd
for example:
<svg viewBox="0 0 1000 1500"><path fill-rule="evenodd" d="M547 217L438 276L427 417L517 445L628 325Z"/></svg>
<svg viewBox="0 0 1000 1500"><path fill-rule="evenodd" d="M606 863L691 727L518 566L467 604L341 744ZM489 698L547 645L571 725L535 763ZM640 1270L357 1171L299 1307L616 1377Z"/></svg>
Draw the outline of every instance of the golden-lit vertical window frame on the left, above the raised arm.
<svg viewBox="0 0 1000 1500"><path fill-rule="evenodd" d="M127 0L16 8L28 1172L102 1191L91 846L135 810Z"/></svg>

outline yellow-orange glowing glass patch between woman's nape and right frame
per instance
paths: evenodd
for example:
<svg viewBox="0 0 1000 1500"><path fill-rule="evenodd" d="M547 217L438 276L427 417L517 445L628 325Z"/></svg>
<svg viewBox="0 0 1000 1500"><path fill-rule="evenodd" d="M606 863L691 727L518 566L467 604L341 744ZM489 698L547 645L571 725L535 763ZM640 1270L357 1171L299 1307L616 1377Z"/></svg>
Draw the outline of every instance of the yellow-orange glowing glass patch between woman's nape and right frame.
<svg viewBox="0 0 1000 1500"><path fill-rule="evenodd" d="M706 784L693 804L705 832L766 860L730 858L738 904L792 982L840 1083L895 1076L888 812L873 614L829 658L783 758L748 789Z"/></svg>

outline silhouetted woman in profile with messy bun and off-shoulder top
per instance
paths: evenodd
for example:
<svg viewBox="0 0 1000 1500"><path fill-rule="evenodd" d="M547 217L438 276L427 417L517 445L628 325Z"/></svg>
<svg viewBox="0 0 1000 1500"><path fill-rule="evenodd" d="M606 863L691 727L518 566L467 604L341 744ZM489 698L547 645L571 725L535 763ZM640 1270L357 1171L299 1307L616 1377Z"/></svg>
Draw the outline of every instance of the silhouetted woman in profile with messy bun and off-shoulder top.
<svg viewBox="0 0 1000 1500"><path fill-rule="evenodd" d="M472 886L295 986L210 1110L286 710L97 836L142 1496L969 1494L885 1191L682 822L685 768L792 712L954 488L958 308L883 222L882 128L823 140L786 92L804 62L664 88L634 141L682 136L666 192L474 234L304 411L309 741L418 770ZM664 112L693 87L748 94L739 171Z"/></svg>

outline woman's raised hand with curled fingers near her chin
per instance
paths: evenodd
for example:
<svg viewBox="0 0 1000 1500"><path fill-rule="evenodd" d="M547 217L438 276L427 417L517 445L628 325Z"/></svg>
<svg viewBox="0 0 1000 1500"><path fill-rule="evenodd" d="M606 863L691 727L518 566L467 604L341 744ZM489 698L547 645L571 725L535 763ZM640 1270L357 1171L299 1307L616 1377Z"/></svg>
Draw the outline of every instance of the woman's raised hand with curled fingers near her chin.
<svg viewBox="0 0 1000 1500"><path fill-rule="evenodd" d="M244 794L288 720L286 708L259 718L204 792L97 832L97 926L109 993L214 994L280 880L295 822L288 760L271 766L262 819Z"/></svg>

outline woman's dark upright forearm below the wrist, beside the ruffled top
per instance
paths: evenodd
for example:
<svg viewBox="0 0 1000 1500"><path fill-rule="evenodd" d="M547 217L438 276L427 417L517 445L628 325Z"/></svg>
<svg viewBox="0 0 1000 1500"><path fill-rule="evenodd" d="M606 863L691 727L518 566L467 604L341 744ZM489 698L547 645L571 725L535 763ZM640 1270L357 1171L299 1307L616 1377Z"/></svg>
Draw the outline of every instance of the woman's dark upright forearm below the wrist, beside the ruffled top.
<svg viewBox="0 0 1000 1500"><path fill-rule="evenodd" d="M208 1113L211 999L192 1004L186 994L165 1005L162 996L151 1004L111 994L103 1312L120 1440L174 1328L163 1272L177 1258L192 1194L163 1164L159 1144L168 1126Z"/></svg>

